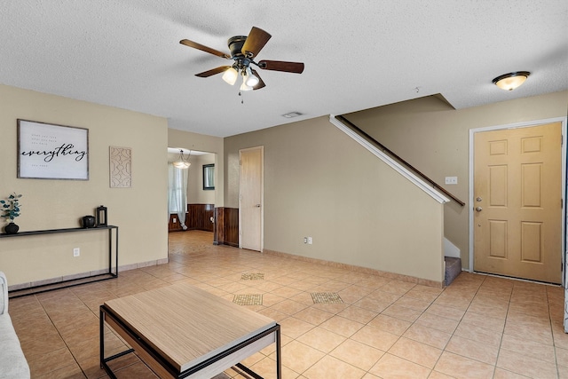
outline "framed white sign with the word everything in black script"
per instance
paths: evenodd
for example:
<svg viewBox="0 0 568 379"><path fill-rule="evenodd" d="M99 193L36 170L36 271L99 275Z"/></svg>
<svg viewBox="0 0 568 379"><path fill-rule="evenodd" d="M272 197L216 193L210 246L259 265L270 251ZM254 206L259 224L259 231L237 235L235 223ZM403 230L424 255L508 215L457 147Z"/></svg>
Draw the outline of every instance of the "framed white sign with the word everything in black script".
<svg viewBox="0 0 568 379"><path fill-rule="evenodd" d="M18 178L89 180L89 130L18 119Z"/></svg>

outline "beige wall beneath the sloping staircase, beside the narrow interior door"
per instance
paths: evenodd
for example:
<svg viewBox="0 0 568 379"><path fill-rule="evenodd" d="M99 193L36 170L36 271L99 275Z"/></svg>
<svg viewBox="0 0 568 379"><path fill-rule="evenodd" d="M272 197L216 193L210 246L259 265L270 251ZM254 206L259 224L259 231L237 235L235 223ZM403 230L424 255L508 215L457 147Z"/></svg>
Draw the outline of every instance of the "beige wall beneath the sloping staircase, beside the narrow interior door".
<svg viewBox="0 0 568 379"><path fill-rule="evenodd" d="M225 138L226 207L239 207L239 149L252 146L264 146L264 249L443 281L444 206L327 117Z"/></svg>

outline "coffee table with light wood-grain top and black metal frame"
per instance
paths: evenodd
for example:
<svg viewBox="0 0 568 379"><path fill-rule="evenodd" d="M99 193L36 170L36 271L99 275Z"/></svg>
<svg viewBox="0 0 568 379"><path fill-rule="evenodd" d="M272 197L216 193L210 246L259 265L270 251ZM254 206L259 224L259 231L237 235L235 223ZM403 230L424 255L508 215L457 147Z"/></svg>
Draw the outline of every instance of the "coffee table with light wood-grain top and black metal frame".
<svg viewBox="0 0 568 379"><path fill-rule="evenodd" d="M105 323L131 347L105 357ZM276 343L281 378L280 325L263 315L189 284L174 284L100 306L100 365L136 352L162 378L211 378L237 366L262 379L243 359Z"/></svg>

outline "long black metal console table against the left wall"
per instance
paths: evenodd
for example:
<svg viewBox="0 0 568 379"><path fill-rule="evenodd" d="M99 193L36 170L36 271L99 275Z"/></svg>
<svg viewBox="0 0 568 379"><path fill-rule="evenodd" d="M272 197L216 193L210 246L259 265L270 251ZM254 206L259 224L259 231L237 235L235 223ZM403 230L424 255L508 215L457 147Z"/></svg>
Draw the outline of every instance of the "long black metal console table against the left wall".
<svg viewBox="0 0 568 379"><path fill-rule="evenodd" d="M93 228L76 227L76 228L67 228L67 229L36 230L30 232L20 232L16 234L0 233L0 239L1 239L1 238L25 237L25 236L33 236L41 234L91 232L96 230L108 231L108 272L89 275L78 279L60 280L55 283L12 290L9 293L10 298L38 294L41 292L51 291L53 289L78 286L80 284L91 283L100 280L114 279L118 277L118 226L103 225ZM114 238L113 238L113 231L114 231ZM114 244L114 249L113 249L113 244ZM113 251L114 251L114 259L113 259Z"/></svg>

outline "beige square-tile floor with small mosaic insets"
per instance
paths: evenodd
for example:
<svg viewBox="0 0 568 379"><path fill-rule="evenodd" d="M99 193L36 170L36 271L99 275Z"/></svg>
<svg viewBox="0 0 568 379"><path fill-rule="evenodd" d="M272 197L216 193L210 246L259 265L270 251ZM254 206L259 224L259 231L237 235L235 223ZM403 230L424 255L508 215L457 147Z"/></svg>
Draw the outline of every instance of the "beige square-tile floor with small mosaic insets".
<svg viewBox="0 0 568 379"><path fill-rule="evenodd" d="M243 273L264 273L264 280L243 280ZM430 288L213 246L204 232L171 233L167 265L12 299L32 377L105 377L99 304L178 281L231 301L262 295L262 305L243 306L280 323L286 379L568 378L562 288L467 272L445 289ZM337 293L343 304L314 304L314 292ZM106 333L107 353L122 351L122 341ZM273 378L273 351L243 363ZM133 354L112 367L119 378L155 377ZM231 369L217 377L242 376Z"/></svg>

